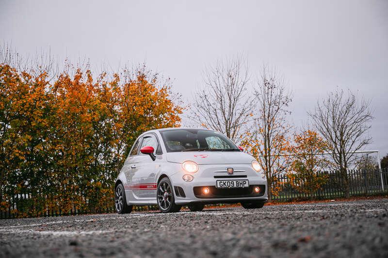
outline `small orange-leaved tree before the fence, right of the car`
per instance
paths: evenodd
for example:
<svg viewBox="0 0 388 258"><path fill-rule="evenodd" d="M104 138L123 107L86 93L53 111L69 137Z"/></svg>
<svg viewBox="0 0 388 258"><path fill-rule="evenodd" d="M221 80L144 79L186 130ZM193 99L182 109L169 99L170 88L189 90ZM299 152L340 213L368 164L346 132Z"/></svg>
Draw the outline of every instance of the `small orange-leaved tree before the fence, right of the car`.
<svg viewBox="0 0 388 258"><path fill-rule="evenodd" d="M322 173L328 161L323 158L328 145L317 132L306 130L293 137L291 171L288 173L292 187L299 192L310 195L322 188L327 182L327 175Z"/></svg>

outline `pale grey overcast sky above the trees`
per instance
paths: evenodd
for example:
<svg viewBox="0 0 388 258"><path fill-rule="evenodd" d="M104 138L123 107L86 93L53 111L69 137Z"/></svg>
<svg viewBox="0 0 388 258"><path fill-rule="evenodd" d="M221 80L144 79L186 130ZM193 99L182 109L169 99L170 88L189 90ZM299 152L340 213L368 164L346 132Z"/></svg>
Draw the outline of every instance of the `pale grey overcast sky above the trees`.
<svg viewBox="0 0 388 258"><path fill-rule="evenodd" d="M388 152L388 1L0 0L0 40L20 54L51 50L115 68L146 62L190 101L205 65L242 54L286 77L292 120L337 86L372 100L369 150Z"/></svg>

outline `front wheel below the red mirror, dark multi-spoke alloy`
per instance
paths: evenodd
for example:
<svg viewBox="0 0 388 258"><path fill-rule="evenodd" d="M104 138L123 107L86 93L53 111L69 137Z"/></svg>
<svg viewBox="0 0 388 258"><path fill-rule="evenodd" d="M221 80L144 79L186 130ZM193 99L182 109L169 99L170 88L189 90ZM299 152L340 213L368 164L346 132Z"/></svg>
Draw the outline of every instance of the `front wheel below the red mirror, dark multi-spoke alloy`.
<svg viewBox="0 0 388 258"><path fill-rule="evenodd" d="M159 210L163 213L179 212L181 205L175 204L173 185L167 177L162 178L156 190Z"/></svg>

